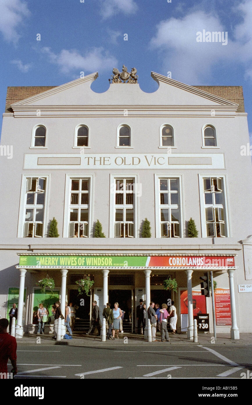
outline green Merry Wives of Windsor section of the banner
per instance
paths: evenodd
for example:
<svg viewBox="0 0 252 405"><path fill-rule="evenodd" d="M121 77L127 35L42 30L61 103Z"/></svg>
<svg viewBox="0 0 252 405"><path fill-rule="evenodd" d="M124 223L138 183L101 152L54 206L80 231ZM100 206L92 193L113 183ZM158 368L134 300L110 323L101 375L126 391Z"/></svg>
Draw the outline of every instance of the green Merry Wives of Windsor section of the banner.
<svg viewBox="0 0 252 405"><path fill-rule="evenodd" d="M127 267L146 266L147 256L20 256L19 266L83 266Z"/></svg>

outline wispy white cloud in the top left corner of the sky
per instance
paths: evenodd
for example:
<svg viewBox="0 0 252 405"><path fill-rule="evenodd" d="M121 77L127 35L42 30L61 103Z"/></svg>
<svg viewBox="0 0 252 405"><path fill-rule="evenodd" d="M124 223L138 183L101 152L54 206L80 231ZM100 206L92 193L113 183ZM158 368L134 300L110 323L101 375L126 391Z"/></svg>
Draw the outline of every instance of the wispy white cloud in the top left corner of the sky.
<svg viewBox="0 0 252 405"><path fill-rule="evenodd" d="M4 38L17 43L20 38L20 34L17 32L18 26L30 14L27 4L21 0L0 0L0 31Z"/></svg>

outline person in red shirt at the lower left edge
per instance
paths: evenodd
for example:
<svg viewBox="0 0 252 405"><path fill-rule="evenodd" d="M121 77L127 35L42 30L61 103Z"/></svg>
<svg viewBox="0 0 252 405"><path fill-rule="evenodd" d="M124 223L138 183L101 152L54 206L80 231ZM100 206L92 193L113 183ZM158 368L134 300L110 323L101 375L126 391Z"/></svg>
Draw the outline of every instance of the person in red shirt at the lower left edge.
<svg viewBox="0 0 252 405"><path fill-rule="evenodd" d="M11 373L17 374L17 341L7 333L9 321L0 319L0 373L8 373L7 362L11 360Z"/></svg>

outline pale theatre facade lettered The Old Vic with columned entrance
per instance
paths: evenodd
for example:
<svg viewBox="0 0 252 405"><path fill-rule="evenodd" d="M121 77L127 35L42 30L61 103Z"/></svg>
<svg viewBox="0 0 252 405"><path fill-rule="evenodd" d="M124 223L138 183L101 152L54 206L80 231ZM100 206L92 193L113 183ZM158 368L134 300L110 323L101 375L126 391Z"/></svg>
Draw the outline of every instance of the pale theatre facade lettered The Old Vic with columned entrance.
<svg viewBox="0 0 252 405"><path fill-rule="evenodd" d="M51 307L63 297L87 322L93 299L100 311L118 301L131 332L139 298L147 306L171 298L178 332L187 330L190 339L193 316L208 313L212 333L212 301L201 295L199 279L209 271L217 283L217 333L239 339L239 332L252 332L251 157L241 154L249 143L242 89L151 76L159 85L153 93L138 83L95 93L97 73L57 87L8 88L0 315L25 302L17 335L22 327L36 333L38 303ZM4 153L11 146L13 158ZM48 237L53 217L58 238ZM148 239L141 237L145 218ZM188 237L190 218L197 238ZM106 238L93 237L97 220ZM78 296L84 274L94 280L90 297ZM43 295L38 281L47 275L55 289ZM168 276L177 292L164 290Z"/></svg>

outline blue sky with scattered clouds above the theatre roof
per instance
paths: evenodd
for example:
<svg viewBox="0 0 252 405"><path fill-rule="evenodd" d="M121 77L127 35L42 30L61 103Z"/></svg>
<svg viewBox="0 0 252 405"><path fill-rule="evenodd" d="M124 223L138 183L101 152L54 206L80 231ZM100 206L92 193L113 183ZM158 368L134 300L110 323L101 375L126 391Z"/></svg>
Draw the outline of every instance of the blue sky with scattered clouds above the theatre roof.
<svg viewBox="0 0 252 405"><path fill-rule="evenodd" d="M92 90L104 92L124 64L145 92L157 89L151 71L189 85L242 85L252 134L251 27L252 0L0 0L0 109L7 86L61 85L81 71L98 71ZM227 32L227 45L197 42L203 30Z"/></svg>

